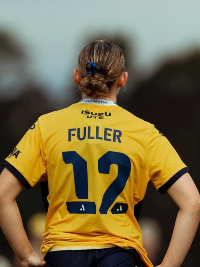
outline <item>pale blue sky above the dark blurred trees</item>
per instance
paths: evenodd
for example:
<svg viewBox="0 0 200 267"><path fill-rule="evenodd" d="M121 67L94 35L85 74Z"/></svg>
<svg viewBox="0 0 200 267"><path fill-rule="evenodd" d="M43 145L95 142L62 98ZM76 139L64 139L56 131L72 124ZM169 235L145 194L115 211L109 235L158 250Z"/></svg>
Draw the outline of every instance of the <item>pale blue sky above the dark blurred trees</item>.
<svg viewBox="0 0 200 267"><path fill-rule="evenodd" d="M151 72L167 56L200 48L199 10L199 0L0 0L0 29L19 38L33 75L62 93L87 35L127 34L138 68Z"/></svg>

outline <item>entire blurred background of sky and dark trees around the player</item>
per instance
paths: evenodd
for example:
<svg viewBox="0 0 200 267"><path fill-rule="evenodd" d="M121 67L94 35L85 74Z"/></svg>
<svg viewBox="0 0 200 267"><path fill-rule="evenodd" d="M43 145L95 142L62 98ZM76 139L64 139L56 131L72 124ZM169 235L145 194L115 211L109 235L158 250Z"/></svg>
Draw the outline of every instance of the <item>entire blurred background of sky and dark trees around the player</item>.
<svg viewBox="0 0 200 267"><path fill-rule="evenodd" d="M73 83L78 54L93 40L109 39L121 46L129 72L118 104L165 134L199 189L199 10L199 0L0 0L0 162L40 115L81 99ZM35 214L42 229L39 185L17 201L28 233ZM149 184L140 224L155 265L177 211ZM200 266L199 239L198 230L183 267ZM19 266L1 231L0 254L0 267Z"/></svg>

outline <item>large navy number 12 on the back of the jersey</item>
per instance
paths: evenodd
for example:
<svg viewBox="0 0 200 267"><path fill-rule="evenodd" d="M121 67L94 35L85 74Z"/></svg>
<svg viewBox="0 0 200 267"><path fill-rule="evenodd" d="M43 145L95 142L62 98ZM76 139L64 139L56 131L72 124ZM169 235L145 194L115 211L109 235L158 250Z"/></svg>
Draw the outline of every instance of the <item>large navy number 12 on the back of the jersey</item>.
<svg viewBox="0 0 200 267"><path fill-rule="evenodd" d="M74 171L75 193L78 199L88 199L87 162L75 151L62 152L65 164L72 164ZM99 212L107 214L110 206L118 195L124 190L131 171L129 157L123 153L108 151L98 160L98 171L102 174L110 173L110 165L118 166L117 178L110 184L103 195ZM96 214L96 204L91 201L67 202L69 213ZM112 214L126 213L126 203L115 203L111 209Z"/></svg>

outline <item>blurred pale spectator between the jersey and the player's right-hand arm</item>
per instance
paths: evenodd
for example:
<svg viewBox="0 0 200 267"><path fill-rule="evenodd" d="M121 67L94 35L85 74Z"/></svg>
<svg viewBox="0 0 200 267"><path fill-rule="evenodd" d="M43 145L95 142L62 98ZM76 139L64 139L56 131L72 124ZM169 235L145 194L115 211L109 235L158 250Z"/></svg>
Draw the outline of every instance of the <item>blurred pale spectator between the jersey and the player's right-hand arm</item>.
<svg viewBox="0 0 200 267"><path fill-rule="evenodd" d="M150 261L154 266L160 262L159 252L162 250L161 225L153 218L142 217L139 220L142 230L142 242Z"/></svg>

